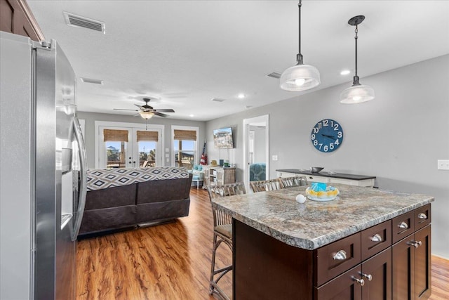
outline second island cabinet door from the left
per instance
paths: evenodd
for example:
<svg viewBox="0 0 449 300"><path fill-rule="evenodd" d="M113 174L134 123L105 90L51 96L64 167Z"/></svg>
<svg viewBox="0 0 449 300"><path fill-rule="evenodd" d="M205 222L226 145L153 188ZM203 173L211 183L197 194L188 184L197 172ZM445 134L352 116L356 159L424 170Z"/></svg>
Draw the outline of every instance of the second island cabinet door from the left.
<svg viewBox="0 0 449 300"><path fill-rule="evenodd" d="M391 247L362 263L363 300L391 300Z"/></svg>

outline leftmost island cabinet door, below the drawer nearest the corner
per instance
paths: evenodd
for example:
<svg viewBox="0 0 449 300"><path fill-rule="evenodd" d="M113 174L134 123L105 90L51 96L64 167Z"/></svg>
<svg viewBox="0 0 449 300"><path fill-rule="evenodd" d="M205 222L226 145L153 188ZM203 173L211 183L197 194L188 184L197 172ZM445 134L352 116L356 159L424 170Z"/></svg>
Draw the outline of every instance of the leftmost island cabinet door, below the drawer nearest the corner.
<svg viewBox="0 0 449 300"><path fill-rule="evenodd" d="M315 289L314 300L360 300L362 287L354 278L360 278L361 265L330 280L326 285Z"/></svg>

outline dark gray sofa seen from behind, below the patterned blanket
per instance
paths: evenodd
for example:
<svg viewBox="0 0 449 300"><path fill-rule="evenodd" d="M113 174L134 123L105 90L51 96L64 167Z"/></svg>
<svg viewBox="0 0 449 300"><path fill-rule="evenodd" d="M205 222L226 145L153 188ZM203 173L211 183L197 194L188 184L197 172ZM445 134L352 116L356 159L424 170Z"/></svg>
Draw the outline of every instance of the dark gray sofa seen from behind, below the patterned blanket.
<svg viewBox="0 0 449 300"><path fill-rule="evenodd" d="M88 190L79 236L188 216L192 174L185 176Z"/></svg>

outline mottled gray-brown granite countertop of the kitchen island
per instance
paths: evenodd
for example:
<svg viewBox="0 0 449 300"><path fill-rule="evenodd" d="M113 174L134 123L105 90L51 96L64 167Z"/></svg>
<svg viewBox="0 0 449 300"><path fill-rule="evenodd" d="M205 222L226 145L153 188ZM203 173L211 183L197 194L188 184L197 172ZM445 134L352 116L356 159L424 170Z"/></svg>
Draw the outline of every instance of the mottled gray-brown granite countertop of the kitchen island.
<svg viewBox="0 0 449 300"><path fill-rule="evenodd" d="M312 250L434 201L427 195L333 186L340 195L328 202L296 202L296 195L305 195L307 186L301 186L215 198L213 206L281 242Z"/></svg>

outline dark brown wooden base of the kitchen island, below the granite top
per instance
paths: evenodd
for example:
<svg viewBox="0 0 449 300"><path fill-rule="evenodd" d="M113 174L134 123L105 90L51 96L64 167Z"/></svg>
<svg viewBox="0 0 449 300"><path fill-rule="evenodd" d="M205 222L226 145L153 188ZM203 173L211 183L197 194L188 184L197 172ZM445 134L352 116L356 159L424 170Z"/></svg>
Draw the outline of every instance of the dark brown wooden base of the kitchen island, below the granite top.
<svg viewBox="0 0 449 300"><path fill-rule="evenodd" d="M234 299L428 299L430 222L427 204L306 250L234 219Z"/></svg>

